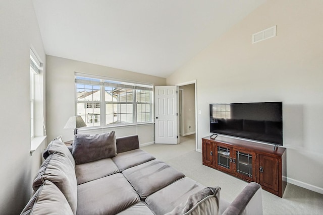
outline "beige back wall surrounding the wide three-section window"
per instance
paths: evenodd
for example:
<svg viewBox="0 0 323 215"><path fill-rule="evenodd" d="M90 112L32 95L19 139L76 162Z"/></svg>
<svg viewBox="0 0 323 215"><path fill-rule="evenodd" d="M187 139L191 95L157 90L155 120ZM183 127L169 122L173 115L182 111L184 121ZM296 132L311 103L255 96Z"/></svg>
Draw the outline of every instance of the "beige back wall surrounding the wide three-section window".
<svg viewBox="0 0 323 215"><path fill-rule="evenodd" d="M63 140L73 138L73 130L63 129L70 116L75 115L75 84L74 72L97 76L153 83L154 86L166 85L166 79L155 76L134 73L101 65L95 65L76 60L55 56L46 56L46 118L48 140L62 135ZM127 126L125 128L110 129L79 129L79 133L99 133L115 130L118 137L138 134L140 144L154 142L154 125Z"/></svg>

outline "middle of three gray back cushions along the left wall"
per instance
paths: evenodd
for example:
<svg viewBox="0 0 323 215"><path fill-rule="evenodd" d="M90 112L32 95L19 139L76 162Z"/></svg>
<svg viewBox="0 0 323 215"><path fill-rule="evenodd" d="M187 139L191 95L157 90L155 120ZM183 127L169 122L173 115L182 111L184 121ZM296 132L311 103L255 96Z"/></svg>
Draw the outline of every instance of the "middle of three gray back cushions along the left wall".
<svg viewBox="0 0 323 215"><path fill-rule="evenodd" d="M62 153L55 153L42 163L33 181L33 189L36 191L44 181L54 183L65 195L73 213L77 207L77 183L74 166L70 159Z"/></svg>

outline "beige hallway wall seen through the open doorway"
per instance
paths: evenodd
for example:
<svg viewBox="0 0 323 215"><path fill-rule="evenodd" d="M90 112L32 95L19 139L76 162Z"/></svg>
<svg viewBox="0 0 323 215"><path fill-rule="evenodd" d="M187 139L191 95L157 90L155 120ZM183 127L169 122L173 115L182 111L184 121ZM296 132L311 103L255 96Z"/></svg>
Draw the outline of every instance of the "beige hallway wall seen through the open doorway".
<svg viewBox="0 0 323 215"><path fill-rule="evenodd" d="M182 135L185 136L195 133L195 85L180 86L180 89L183 89Z"/></svg>

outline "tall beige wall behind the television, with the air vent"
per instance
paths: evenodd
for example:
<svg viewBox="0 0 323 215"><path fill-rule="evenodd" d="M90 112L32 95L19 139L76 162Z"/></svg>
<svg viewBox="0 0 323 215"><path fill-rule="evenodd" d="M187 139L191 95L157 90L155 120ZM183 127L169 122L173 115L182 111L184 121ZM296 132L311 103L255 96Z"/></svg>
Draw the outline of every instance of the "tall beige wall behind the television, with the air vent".
<svg viewBox="0 0 323 215"><path fill-rule="evenodd" d="M209 103L283 101L288 182L323 193L323 1L268 1L167 78L197 80L198 150ZM277 25L277 36L251 35Z"/></svg>

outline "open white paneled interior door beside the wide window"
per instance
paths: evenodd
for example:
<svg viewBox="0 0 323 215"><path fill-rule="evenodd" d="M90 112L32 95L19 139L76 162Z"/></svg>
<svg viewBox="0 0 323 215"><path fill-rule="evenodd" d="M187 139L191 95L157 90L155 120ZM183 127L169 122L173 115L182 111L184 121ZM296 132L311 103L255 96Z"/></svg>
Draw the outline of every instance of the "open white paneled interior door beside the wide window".
<svg viewBox="0 0 323 215"><path fill-rule="evenodd" d="M155 87L155 144L178 143L178 87Z"/></svg>

